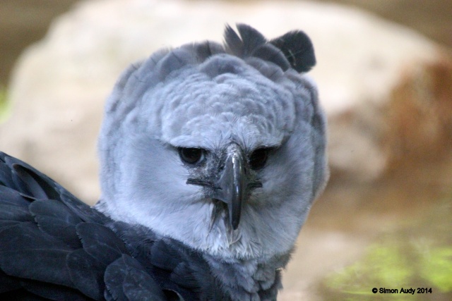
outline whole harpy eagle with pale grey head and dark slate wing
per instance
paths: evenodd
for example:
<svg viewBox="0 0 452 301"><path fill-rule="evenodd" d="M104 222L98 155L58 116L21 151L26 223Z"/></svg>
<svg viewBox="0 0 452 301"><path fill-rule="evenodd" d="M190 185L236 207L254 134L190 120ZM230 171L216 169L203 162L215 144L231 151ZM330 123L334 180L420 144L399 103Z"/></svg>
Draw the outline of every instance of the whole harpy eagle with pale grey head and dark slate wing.
<svg viewBox="0 0 452 301"><path fill-rule="evenodd" d="M314 64L304 32L243 24L133 64L94 207L1 153L1 299L276 300L328 178Z"/></svg>

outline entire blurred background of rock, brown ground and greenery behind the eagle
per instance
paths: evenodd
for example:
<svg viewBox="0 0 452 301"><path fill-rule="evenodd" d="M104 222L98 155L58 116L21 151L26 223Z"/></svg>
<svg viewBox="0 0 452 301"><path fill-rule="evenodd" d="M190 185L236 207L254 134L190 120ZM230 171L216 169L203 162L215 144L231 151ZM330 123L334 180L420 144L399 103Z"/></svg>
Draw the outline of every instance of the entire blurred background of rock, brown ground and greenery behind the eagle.
<svg viewBox="0 0 452 301"><path fill-rule="evenodd" d="M121 70L236 22L306 31L328 114L331 180L278 300L452 300L450 0L2 0L0 149L93 204Z"/></svg>

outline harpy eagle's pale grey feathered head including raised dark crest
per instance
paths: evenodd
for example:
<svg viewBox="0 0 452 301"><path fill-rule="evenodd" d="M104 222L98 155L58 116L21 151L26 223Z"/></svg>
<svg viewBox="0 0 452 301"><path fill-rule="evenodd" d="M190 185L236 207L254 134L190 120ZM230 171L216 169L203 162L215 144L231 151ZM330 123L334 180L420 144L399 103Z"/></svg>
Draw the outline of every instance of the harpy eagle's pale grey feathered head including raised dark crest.
<svg viewBox="0 0 452 301"><path fill-rule="evenodd" d="M326 121L304 74L309 37L237 31L124 71L100 132L96 207L208 254L269 258L290 252L326 183Z"/></svg>

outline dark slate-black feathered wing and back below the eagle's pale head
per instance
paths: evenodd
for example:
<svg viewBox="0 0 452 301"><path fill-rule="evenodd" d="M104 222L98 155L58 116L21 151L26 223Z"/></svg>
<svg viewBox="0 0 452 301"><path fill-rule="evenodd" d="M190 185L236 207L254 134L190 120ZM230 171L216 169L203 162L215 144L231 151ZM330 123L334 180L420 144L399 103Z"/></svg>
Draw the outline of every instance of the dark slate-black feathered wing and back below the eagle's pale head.
<svg viewBox="0 0 452 301"><path fill-rule="evenodd" d="M201 254L112 221L0 152L2 300L227 298Z"/></svg>

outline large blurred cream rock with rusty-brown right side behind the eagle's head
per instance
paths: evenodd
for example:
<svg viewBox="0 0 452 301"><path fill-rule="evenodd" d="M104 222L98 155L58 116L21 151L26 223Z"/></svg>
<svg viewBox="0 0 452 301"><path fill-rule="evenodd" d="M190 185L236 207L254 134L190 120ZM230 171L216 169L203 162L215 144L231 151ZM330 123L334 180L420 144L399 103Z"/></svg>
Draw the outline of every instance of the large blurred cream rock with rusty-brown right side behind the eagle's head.
<svg viewBox="0 0 452 301"><path fill-rule="evenodd" d="M102 106L121 70L160 47L220 42L225 23L240 22L270 38L292 29L312 38L318 65L311 74L330 122L333 178L369 181L448 155L450 58L405 27L308 1L81 2L21 57L0 149L95 202L95 141Z"/></svg>

